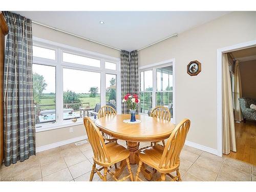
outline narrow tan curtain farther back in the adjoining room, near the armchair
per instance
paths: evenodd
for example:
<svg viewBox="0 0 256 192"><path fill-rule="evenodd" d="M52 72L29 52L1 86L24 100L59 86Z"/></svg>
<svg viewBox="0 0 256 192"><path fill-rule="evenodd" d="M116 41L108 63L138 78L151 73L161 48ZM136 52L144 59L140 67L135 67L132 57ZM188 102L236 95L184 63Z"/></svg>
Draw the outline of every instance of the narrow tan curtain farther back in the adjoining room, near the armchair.
<svg viewBox="0 0 256 192"><path fill-rule="evenodd" d="M240 108L239 98L242 97L242 86L240 76L240 63L236 60L234 64L234 120L242 121L242 111Z"/></svg>

